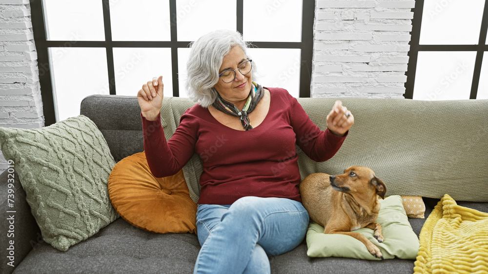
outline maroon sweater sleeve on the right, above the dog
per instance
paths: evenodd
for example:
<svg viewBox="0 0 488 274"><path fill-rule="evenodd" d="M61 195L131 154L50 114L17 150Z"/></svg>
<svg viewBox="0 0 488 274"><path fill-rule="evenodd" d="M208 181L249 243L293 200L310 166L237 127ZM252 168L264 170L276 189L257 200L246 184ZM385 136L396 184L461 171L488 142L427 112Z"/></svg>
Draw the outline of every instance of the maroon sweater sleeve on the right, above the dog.
<svg viewBox="0 0 488 274"><path fill-rule="evenodd" d="M321 130L308 117L296 98L291 97L290 100L292 100L290 102L290 123L297 136L297 145L310 159L316 162L323 162L332 158L341 148L349 131L344 136L337 136L328 128Z"/></svg>

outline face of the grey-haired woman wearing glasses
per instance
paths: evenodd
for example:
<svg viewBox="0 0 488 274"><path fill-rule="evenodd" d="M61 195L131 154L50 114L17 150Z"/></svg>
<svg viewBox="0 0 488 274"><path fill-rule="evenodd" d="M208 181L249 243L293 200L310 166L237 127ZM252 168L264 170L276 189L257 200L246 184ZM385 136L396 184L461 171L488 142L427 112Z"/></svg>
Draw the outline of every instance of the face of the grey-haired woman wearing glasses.
<svg viewBox="0 0 488 274"><path fill-rule="evenodd" d="M219 69L219 74L226 70L236 70L236 78L230 83L222 81L222 77L219 77L219 81L215 84L214 88L219 92L220 96L225 101L236 104L244 101L249 95L251 90L251 74L252 72L243 75L239 72L239 66L247 61L247 56L240 46L233 46L230 52L224 56L222 60L222 66Z"/></svg>

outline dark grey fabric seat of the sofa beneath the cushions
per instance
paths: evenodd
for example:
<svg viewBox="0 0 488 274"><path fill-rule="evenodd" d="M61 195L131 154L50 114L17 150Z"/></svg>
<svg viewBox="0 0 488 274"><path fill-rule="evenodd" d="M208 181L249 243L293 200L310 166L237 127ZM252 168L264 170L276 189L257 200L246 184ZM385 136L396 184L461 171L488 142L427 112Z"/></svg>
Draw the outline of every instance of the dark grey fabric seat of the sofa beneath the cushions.
<svg viewBox="0 0 488 274"><path fill-rule="evenodd" d="M423 219L415 219L421 220ZM119 218L67 252L46 243L34 246L15 273L192 273L200 250L195 234L157 234ZM369 261L310 258L305 241L290 252L269 256L271 273L412 273L413 260Z"/></svg>

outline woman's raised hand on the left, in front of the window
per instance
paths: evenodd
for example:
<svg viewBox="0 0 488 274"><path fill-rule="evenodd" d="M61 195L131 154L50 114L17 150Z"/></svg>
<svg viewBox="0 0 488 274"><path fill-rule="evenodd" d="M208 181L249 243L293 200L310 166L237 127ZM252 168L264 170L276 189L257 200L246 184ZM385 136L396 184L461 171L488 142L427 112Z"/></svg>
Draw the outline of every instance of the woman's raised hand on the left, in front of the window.
<svg viewBox="0 0 488 274"><path fill-rule="evenodd" d="M163 76L154 77L142 85L137 92L137 101L141 107L142 116L147 120L156 120L163 105Z"/></svg>

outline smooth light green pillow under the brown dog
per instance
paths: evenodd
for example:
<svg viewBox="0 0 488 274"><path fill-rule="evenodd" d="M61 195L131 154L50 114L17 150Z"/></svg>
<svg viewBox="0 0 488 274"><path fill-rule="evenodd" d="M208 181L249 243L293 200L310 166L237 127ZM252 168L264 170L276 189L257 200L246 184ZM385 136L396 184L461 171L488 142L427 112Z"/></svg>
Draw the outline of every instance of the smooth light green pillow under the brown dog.
<svg viewBox="0 0 488 274"><path fill-rule="evenodd" d="M383 254L385 259L394 257L415 259L419 252L419 239L408 222L400 196L380 200L381 209L376 222L381 224L385 241L380 243L373 237L373 230L361 228L361 233ZM306 234L307 255L310 257L347 257L366 260L380 260L371 255L359 240L341 234L324 234L324 227L310 222Z"/></svg>

